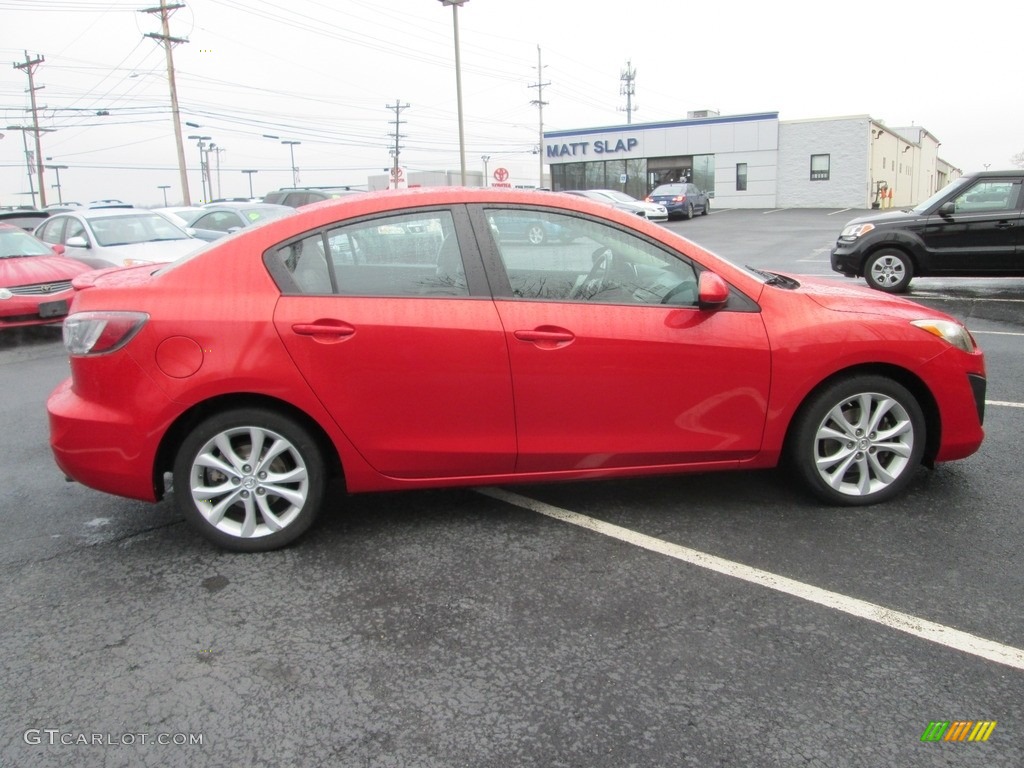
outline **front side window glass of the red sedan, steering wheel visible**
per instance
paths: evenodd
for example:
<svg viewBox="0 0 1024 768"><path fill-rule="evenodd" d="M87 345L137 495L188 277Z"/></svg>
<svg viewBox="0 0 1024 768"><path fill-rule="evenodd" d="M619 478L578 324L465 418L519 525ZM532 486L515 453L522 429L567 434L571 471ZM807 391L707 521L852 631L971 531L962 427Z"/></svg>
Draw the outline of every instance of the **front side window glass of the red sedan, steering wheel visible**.
<svg viewBox="0 0 1024 768"><path fill-rule="evenodd" d="M484 215L516 299L696 305L692 264L629 231L546 210Z"/></svg>

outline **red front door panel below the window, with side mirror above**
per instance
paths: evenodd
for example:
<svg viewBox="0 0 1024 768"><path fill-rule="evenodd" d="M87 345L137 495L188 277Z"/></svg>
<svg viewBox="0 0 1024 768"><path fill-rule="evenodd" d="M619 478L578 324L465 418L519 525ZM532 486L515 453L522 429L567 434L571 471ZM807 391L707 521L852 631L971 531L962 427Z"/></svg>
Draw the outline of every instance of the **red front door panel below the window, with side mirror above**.
<svg viewBox="0 0 1024 768"><path fill-rule="evenodd" d="M738 460L761 446L757 312L500 301L518 472Z"/></svg>

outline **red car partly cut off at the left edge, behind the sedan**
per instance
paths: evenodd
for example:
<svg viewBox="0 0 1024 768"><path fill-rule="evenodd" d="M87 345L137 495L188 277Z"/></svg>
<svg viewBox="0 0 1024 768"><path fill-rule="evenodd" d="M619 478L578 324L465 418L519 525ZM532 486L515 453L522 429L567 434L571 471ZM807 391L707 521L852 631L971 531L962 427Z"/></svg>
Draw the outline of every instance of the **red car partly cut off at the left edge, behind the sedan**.
<svg viewBox="0 0 1024 768"><path fill-rule="evenodd" d="M57 250L59 249L59 250ZM60 254L20 227L0 224L0 329L60 323L75 289L92 267Z"/></svg>

